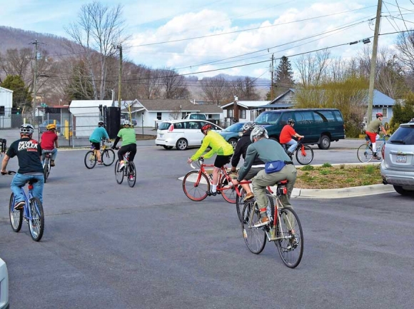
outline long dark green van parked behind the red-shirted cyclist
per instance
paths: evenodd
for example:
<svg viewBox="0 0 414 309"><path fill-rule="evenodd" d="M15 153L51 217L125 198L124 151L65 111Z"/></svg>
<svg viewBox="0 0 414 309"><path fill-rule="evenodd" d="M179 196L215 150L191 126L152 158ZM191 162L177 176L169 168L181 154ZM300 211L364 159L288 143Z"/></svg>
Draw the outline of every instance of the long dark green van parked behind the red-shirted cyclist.
<svg viewBox="0 0 414 309"><path fill-rule="evenodd" d="M295 121L295 131L305 136L303 143L318 144L320 149L328 149L331 141L345 138L342 113L336 108L298 108L263 111L256 124L264 126L269 138L279 141L279 135L288 119Z"/></svg>

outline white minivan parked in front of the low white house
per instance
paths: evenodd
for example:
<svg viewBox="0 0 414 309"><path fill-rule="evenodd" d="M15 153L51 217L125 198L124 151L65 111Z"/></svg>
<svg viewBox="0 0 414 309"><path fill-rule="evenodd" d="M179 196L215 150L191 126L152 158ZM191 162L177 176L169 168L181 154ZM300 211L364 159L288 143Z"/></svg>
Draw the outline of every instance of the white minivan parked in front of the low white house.
<svg viewBox="0 0 414 309"><path fill-rule="evenodd" d="M211 129L220 133L223 128L214 123L197 119L170 120L159 123L157 130L156 145L171 149L186 150L188 147L201 146L204 135L201 128L211 124Z"/></svg>

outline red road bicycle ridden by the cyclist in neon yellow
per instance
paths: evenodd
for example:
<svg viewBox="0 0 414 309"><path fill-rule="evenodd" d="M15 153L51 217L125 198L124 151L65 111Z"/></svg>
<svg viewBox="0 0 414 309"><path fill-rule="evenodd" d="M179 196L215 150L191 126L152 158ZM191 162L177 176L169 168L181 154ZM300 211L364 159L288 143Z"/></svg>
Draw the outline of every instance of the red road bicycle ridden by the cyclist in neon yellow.
<svg viewBox="0 0 414 309"><path fill-rule="evenodd" d="M193 171L189 171L183 178L183 191L191 201L203 201L207 197L207 191L212 186L213 175L206 171L206 167L214 167L213 164L204 164L204 158L194 161L196 166L191 164ZM231 182L226 166L221 167L221 174L218 176L217 193L221 194L228 203L236 203L236 190Z"/></svg>

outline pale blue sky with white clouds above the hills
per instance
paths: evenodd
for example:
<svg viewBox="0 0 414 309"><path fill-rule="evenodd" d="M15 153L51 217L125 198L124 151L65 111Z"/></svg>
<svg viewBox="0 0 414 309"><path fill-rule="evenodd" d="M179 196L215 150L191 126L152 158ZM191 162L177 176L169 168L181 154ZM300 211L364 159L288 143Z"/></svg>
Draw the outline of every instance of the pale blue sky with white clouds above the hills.
<svg viewBox="0 0 414 309"><path fill-rule="evenodd" d="M101 2L108 6L118 4ZM1 26L68 37L64 27L76 21L81 6L91 1L9 3L0 0ZM375 21L369 20L375 17L378 0L123 0L119 3L123 5L126 31L131 35L123 47L123 55L136 64L153 69L168 67L199 78L220 73L270 78L272 54L276 59L288 56L294 69L296 54L372 37ZM380 34L411 29L414 1L383 1L382 15ZM380 36L380 48L393 49L396 37L396 34ZM334 57L348 59L363 48L360 43L335 47L330 52Z"/></svg>

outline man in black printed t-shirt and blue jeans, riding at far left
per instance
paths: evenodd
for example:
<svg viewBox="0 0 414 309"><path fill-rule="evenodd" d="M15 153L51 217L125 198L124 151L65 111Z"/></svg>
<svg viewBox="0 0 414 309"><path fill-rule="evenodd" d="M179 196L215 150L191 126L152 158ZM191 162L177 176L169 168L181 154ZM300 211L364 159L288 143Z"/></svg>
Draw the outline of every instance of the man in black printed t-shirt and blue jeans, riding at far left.
<svg viewBox="0 0 414 309"><path fill-rule="evenodd" d="M44 175L43 167L41 166L41 146L38 141L31 139L33 132L34 127L31 124L25 123L21 125L20 139L11 143L1 163L1 173L6 174L9 158L17 156L19 160L19 171L14 175L10 185L11 191L13 191L16 197L14 209L24 207L25 202L24 196L21 193L21 187L24 187L31 178L36 178L37 180L36 183L33 183L33 196L39 198L43 203Z"/></svg>

